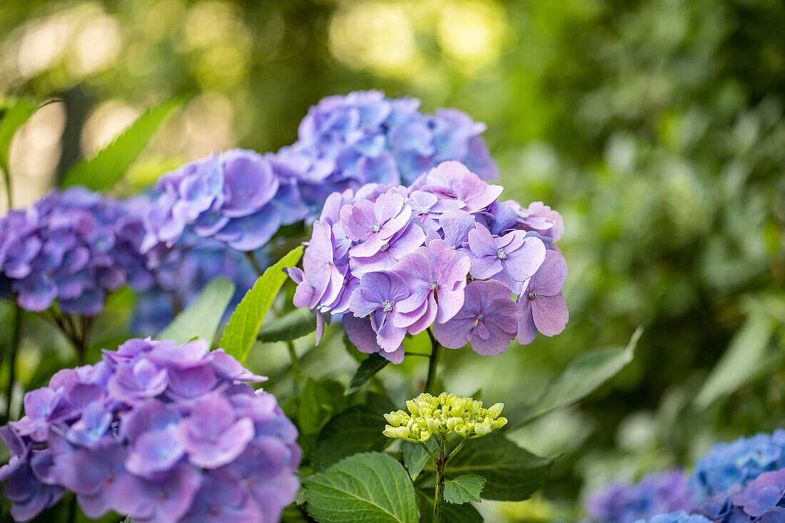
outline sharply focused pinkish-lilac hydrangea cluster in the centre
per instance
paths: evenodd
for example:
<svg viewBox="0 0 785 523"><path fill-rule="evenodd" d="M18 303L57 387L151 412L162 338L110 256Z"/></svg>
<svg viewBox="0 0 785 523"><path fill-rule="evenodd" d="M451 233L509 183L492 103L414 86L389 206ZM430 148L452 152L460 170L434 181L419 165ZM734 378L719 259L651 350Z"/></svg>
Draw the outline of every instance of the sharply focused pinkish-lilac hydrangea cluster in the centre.
<svg viewBox="0 0 785 523"><path fill-rule="evenodd" d="M518 335L564 329L563 225L542 203L499 202L490 185L444 162L409 187L368 184L327 198L303 257L291 269L294 304L342 315L365 353L403 360L403 338L433 325L444 346L502 353ZM513 301L513 295L517 302Z"/></svg>

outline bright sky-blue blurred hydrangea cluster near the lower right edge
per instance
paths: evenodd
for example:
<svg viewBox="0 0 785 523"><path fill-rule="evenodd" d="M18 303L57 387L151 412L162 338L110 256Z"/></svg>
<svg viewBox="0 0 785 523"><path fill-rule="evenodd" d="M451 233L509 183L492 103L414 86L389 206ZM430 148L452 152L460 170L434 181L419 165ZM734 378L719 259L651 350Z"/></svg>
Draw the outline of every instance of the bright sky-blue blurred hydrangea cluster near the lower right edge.
<svg viewBox="0 0 785 523"><path fill-rule="evenodd" d="M719 443L696 463L690 488L699 498L747 485L764 472L785 468L785 430Z"/></svg>

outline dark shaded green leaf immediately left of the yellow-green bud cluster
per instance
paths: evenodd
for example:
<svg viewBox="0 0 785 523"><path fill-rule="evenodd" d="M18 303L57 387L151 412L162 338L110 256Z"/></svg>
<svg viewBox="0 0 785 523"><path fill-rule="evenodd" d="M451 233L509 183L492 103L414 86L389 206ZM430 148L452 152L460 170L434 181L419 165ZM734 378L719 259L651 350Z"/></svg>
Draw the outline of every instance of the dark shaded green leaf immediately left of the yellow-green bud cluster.
<svg viewBox="0 0 785 523"><path fill-rule="evenodd" d="M383 451L392 443L382 434L384 415L395 405L388 398L368 394L366 404L352 407L330 420L319 433L312 465L323 470L350 455Z"/></svg>

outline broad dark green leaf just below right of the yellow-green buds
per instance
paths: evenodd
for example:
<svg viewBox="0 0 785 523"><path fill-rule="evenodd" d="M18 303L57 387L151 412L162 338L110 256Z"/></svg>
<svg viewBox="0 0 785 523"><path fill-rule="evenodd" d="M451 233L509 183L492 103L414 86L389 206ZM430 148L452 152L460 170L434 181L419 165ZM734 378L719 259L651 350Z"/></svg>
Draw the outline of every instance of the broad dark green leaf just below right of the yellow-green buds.
<svg viewBox="0 0 785 523"><path fill-rule="evenodd" d="M542 487L553 459L540 458L505 437L490 435L471 440L447 465L448 479L462 474L485 478L483 499L523 501Z"/></svg>

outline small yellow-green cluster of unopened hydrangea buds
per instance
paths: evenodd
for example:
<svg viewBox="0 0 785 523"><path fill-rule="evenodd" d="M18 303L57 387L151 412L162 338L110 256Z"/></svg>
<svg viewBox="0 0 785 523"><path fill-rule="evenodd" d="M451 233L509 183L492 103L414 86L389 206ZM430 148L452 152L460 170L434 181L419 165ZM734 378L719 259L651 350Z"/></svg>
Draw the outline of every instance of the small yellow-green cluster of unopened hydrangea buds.
<svg viewBox="0 0 785 523"><path fill-rule="evenodd" d="M386 437L418 443L428 441L431 434L444 438L455 432L470 439L485 436L507 424L506 418L499 417L503 403L483 408L482 401L455 394L432 396L422 393L414 400L408 400L406 408L408 412L385 414L389 423L384 430Z"/></svg>

